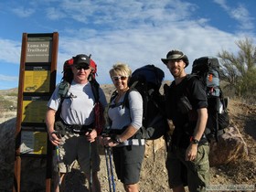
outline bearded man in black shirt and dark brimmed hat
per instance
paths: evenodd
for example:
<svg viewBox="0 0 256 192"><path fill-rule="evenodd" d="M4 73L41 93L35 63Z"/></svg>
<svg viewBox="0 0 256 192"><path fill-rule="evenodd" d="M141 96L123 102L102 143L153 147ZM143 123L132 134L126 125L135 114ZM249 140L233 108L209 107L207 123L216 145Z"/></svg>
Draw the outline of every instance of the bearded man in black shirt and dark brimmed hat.
<svg viewBox="0 0 256 192"><path fill-rule="evenodd" d="M168 149L166 168L173 191L206 191L209 181L208 141L204 131L208 121L208 102L203 84L187 75L189 61L179 50L162 59L174 77L165 92L166 113L175 130Z"/></svg>

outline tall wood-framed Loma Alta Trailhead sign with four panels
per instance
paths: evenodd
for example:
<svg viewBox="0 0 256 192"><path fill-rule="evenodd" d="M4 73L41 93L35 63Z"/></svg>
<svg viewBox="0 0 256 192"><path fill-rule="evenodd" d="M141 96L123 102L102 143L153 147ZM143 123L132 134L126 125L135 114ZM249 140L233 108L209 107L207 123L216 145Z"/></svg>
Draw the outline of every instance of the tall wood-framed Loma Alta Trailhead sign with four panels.
<svg viewBox="0 0 256 192"><path fill-rule="evenodd" d="M14 192L21 191L22 160L46 163L46 191L50 192L52 145L45 123L47 102L55 90L59 34L22 37L17 116Z"/></svg>

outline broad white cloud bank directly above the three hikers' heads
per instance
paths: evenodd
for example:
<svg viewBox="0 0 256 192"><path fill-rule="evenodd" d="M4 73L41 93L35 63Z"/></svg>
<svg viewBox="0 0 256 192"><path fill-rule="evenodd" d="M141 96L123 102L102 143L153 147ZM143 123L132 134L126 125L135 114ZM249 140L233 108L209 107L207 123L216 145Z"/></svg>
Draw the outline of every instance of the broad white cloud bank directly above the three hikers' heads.
<svg viewBox="0 0 256 192"><path fill-rule="evenodd" d="M170 30L171 28L171 30ZM78 38L86 34L86 28L76 33L76 37L61 37L59 51L65 59L79 53L92 54L92 59L99 65L98 77L101 82L109 81L108 70L117 61L128 63L132 69L145 64L155 64L165 69L161 58L173 48L183 50L190 63L201 56L216 56L221 48L235 51L234 41L237 37L219 31L214 27L201 27L196 22L177 22L165 27L137 27L129 30L101 32L101 36ZM62 69L62 60L59 68ZM190 71L191 65L187 68ZM170 78L165 69L166 76Z"/></svg>

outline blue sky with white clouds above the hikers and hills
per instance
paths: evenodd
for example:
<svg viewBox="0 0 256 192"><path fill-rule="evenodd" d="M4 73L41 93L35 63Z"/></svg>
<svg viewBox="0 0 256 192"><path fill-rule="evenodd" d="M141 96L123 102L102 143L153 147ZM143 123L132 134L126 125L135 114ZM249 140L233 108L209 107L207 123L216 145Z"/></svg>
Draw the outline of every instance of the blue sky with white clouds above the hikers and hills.
<svg viewBox="0 0 256 192"><path fill-rule="evenodd" d="M111 83L109 69L124 62L132 69L146 64L164 69L171 49L191 63L236 53L235 41L256 42L254 0L0 0L0 90L18 86L22 34L59 33L58 78L63 62L80 53L98 64L97 80Z"/></svg>

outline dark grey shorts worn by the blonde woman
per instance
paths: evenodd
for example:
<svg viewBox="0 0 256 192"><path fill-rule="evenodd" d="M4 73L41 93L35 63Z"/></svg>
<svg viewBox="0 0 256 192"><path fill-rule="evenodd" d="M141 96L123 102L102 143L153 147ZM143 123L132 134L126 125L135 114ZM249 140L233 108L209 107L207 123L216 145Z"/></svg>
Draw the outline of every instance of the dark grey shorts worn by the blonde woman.
<svg viewBox="0 0 256 192"><path fill-rule="evenodd" d="M117 177L125 185L136 184L140 180L144 145L113 147L113 162Z"/></svg>

